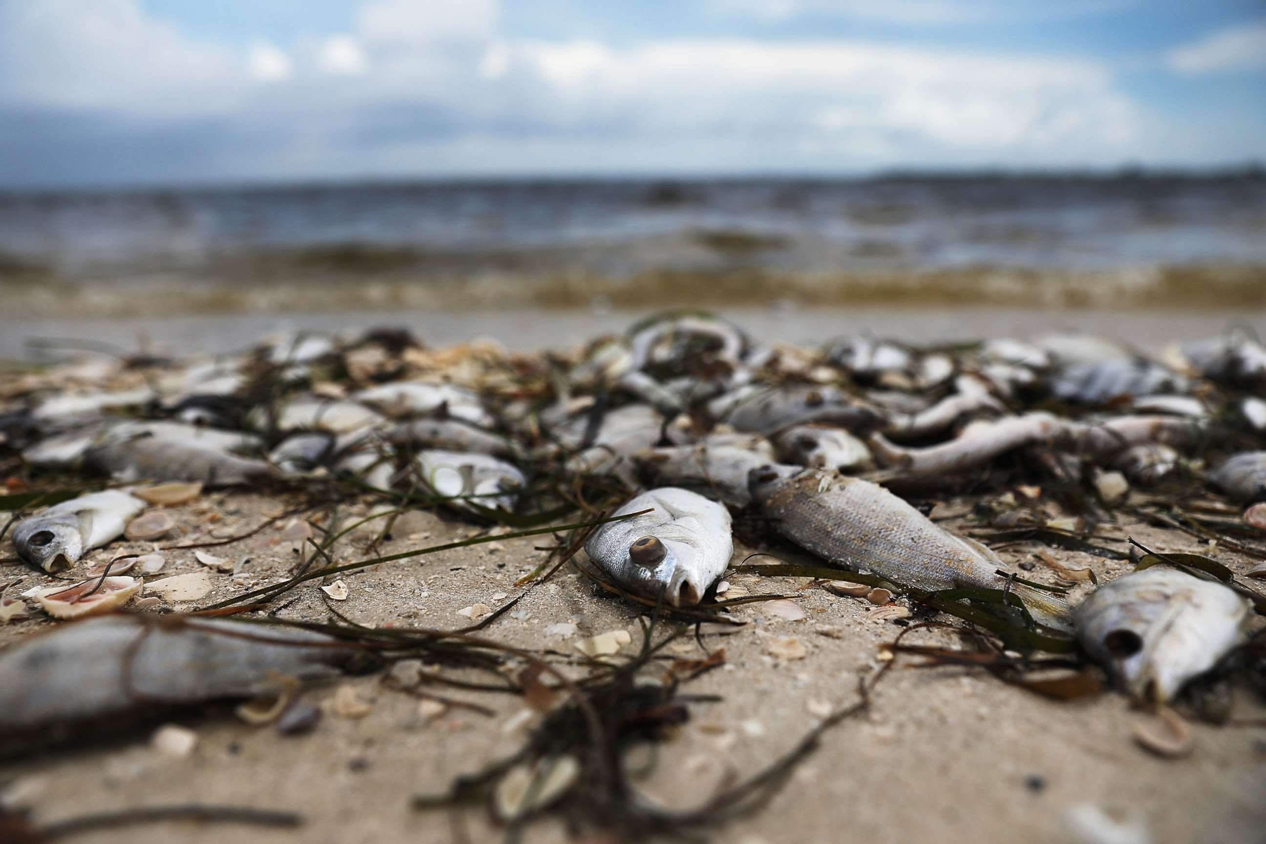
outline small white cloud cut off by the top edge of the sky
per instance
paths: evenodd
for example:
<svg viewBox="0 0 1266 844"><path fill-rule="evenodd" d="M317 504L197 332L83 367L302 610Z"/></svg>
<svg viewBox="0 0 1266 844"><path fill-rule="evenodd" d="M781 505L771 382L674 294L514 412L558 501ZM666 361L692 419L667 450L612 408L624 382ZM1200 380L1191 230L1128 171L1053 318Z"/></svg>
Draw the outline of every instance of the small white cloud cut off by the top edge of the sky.
<svg viewBox="0 0 1266 844"><path fill-rule="evenodd" d="M375 0L356 20L366 40L419 44L486 38L498 11L498 0Z"/></svg>

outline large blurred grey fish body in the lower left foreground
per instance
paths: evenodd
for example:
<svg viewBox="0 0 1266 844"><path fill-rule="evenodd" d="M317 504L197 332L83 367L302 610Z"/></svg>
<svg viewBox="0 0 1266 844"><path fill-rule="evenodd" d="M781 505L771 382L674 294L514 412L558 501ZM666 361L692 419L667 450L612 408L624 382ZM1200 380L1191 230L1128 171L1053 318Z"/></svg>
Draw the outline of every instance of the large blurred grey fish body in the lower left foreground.
<svg viewBox="0 0 1266 844"><path fill-rule="evenodd" d="M319 633L224 620L76 621L0 653L0 736L68 731L143 709L253 697L348 659ZM27 736L22 734L27 733Z"/></svg>

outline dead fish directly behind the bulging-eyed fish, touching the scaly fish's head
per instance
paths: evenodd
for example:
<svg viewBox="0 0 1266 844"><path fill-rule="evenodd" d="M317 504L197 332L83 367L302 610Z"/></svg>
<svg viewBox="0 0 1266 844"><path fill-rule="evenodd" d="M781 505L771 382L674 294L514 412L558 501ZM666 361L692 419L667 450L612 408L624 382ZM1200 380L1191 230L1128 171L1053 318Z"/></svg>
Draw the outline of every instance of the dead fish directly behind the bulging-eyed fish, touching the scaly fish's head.
<svg viewBox="0 0 1266 844"><path fill-rule="evenodd" d="M774 459L763 437L713 434L694 445L651 448L633 454L642 476L655 486L685 486L734 507L752 502L747 477Z"/></svg>

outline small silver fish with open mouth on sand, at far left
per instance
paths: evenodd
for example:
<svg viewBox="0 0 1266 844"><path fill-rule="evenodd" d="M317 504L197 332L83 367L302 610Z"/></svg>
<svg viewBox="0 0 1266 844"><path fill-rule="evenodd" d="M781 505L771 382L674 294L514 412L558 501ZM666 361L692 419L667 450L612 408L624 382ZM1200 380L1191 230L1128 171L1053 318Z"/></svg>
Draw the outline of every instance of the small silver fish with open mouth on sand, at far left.
<svg viewBox="0 0 1266 844"><path fill-rule="evenodd" d="M57 572L122 537L144 509L144 501L120 490L82 495L23 519L13 530L13 547L28 563Z"/></svg>

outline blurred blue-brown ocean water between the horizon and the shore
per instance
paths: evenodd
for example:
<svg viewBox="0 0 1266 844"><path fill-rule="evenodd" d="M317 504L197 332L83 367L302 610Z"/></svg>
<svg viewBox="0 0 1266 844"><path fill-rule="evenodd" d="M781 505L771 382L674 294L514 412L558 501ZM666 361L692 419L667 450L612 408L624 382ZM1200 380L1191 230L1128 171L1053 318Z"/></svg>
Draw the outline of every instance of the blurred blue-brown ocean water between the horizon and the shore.
<svg viewBox="0 0 1266 844"><path fill-rule="evenodd" d="M452 291L492 275L570 278L556 285L561 302L655 273L747 273L762 281L744 290L774 295L787 280L808 290L814 278L950 273L952 286L1023 272L1137 286L1139 272L1224 267L1241 271L1237 285L1266 280L1261 172L0 194L9 290L442 280Z"/></svg>

